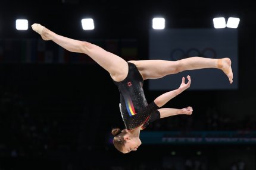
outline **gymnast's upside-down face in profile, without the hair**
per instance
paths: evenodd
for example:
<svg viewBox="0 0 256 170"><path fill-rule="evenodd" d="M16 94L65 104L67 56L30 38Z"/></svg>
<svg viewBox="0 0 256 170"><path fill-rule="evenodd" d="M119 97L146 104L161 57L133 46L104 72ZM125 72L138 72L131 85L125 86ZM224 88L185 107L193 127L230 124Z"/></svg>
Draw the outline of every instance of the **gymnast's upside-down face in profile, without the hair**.
<svg viewBox="0 0 256 170"><path fill-rule="evenodd" d="M123 147L123 153L129 153L133 150L137 150L141 145L141 139L139 139L139 137L124 136L124 140L126 140L126 144Z"/></svg>

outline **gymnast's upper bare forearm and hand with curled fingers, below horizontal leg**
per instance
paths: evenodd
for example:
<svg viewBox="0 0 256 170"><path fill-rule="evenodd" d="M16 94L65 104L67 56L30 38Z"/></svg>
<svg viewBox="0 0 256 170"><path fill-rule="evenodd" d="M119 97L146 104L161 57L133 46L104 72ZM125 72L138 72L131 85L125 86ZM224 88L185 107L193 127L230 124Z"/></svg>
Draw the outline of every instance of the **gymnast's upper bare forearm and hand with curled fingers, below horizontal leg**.
<svg viewBox="0 0 256 170"><path fill-rule="evenodd" d="M185 91L185 89L188 89L189 86L191 85L191 77L187 76L188 78L188 83L185 84L185 78L182 78L182 84L180 84L180 87L178 89L174 89L173 91L168 91L162 95L160 95L159 97L157 97L154 102L158 107L162 107L163 105L165 105L168 101L170 101L172 98L176 97L177 95L179 95L180 93L182 93L183 91Z"/></svg>

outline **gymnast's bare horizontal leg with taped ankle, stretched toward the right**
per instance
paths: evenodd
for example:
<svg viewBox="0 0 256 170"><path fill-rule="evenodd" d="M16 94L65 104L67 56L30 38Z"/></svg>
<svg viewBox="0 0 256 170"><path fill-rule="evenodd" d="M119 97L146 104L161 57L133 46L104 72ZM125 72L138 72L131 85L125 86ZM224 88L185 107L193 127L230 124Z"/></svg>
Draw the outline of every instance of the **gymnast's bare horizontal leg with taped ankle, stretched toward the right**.
<svg viewBox="0 0 256 170"><path fill-rule="evenodd" d="M139 60L129 62L135 63L143 79L162 78L163 76L179 73L184 70L216 68L223 70L229 78L230 84L233 82L233 72L229 58L209 59L204 57L189 57L175 62L167 60Z"/></svg>

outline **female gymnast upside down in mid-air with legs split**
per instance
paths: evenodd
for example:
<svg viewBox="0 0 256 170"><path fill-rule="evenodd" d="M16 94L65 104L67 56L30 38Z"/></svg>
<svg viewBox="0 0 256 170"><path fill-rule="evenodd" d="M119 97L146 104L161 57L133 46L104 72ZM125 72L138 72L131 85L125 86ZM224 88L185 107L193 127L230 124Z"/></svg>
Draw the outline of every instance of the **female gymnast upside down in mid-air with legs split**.
<svg viewBox="0 0 256 170"><path fill-rule="evenodd" d="M166 75L179 73L184 70L215 68L223 70L230 84L233 82L231 60L229 58L209 59L204 57L189 57L177 61L168 60L132 60L126 62L121 57L107 52L95 44L87 41L79 41L60 36L48 28L33 24L32 29L40 34L43 40L52 40L59 46L70 52L85 53L102 68L110 73L115 85L120 91L120 112L126 129L112 129L114 135L113 144L122 153L137 150L141 145L140 131L149 123L177 114L192 114L192 107L182 109L161 108L172 98L188 89L191 85L191 77L188 82L182 78L179 88L166 92L155 98L150 104L146 101L143 92L143 81L146 79L163 78Z"/></svg>

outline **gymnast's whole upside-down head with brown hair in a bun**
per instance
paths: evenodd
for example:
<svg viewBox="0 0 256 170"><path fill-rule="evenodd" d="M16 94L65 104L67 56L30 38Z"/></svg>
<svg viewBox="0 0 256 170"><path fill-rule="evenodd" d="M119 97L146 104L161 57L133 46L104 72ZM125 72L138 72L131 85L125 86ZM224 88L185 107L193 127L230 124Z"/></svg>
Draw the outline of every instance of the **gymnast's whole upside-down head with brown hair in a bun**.
<svg viewBox="0 0 256 170"><path fill-rule="evenodd" d="M137 150L141 145L141 140L138 136L133 136L127 129L120 130L115 128L112 130L114 136L113 144L117 150L122 153L129 153L133 150Z"/></svg>

